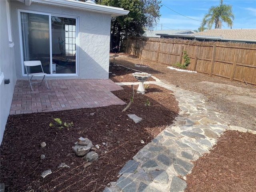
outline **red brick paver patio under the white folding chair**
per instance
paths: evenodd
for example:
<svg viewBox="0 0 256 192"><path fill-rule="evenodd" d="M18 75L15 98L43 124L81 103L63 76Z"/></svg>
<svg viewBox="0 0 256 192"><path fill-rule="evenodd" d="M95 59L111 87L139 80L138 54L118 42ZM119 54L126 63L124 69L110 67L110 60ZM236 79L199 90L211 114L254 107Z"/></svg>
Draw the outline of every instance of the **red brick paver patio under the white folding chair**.
<svg viewBox="0 0 256 192"><path fill-rule="evenodd" d="M122 90L110 79L54 79L42 86L28 80L17 80L10 114L50 112L125 104L110 91Z"/></svg>

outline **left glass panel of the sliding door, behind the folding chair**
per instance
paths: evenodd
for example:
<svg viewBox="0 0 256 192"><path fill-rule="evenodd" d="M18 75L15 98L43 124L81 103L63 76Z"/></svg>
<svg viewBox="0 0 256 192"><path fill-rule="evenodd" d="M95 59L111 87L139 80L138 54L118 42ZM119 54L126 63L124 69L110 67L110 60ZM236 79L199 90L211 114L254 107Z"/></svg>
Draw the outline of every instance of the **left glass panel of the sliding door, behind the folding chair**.
<svg viewBox="0 0 256 192"><path fill-rule="evenodd" d="M44 72L50 74L49 16L21 12L20 18L24 61L40 60ZM29 73L37 70L30 68Z"/></svg>

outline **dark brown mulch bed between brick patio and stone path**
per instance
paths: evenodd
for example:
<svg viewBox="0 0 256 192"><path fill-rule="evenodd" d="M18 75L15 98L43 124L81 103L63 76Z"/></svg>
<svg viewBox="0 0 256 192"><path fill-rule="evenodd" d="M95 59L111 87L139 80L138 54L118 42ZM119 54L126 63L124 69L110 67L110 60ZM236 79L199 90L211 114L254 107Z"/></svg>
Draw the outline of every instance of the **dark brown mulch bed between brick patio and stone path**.
<svg viewBox="0 0 256 192"><path fill-rule="evenodd" d="M113 93L128 103L132 89L123 88ZM147 100L150 106L145 105ZM126 112L122 112L124 108L125 105L9 116L0 154L1 183L6 191L103 191L118 179L118 172L138 150L172 124L179 111L172 92L155 85L150 85L143 95L135 91L134 103ZM143 120L135 124L127 114L136 114ZM53 118L73 122L74 126L50 127ZM100 146L96 150L99 159L90 166L72 152L80 136ZM41 148L41 142L46 142L46 147ZM40 160L42 154L46 156L44 160ZM58 168L62 162L70 168ZM52 174L40 177L48 169Z"/></svg>

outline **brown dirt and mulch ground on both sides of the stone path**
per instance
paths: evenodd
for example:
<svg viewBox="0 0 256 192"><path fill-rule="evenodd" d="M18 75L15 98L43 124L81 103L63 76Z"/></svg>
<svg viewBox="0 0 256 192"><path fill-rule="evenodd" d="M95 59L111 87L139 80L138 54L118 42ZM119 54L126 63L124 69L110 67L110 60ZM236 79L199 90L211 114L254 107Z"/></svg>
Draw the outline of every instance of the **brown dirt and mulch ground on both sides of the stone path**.
<svg viewBox="0 0 256 192"><path fill-rule="evenodd" d="M135 67L141 60L133 56L120 54L115 58L116 64L149 72L167 84L204 94L226 122L256 130L255 86L142 62L150 68ZM110 75L114 82L136 82L132 70L110 66L110 71L116 74ZM132 89L123 88L113 93L128 103ZM5 191L102 192L109 182L118 179L122 166L178 116L178 102L172 92L156 85L150 84L144 95L135 91L133 100L126 112L122 112L124 105L9 116L0 148L0 180L6 186ZM135 124L127 114L142 117L143 123ZM73 122L73 126L50 127L53 118ZM99 145L99 149L94 149L99 159L90 165L72 152L80 136ZM46 147L41 148L43 141ZM70 168L58 168L63 162ZM187 175L186 192L254 192L255 162L255 135L227 131L210 154L193 162L192 173ZM42 178L41 173L48 169L52 174Z"/></svg>

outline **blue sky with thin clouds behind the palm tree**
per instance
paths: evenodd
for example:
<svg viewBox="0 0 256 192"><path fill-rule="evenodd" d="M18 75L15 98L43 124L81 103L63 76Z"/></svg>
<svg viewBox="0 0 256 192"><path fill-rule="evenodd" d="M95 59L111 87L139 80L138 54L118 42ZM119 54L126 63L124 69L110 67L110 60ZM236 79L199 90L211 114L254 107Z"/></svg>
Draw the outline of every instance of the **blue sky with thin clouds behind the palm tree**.
<svg viewBox="0 0 256 192"><path fill-rule="evenodd" d="M220 0L162 0L160 21L155 30L198 30L204 14ZM235 19L232 29L256 29L256 0L223 0L232 5ZM223 23L222 29L228 29ZM212 29L214 25L212 26Z"/></svg>

